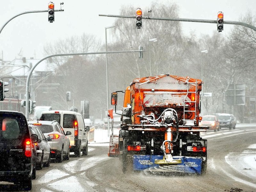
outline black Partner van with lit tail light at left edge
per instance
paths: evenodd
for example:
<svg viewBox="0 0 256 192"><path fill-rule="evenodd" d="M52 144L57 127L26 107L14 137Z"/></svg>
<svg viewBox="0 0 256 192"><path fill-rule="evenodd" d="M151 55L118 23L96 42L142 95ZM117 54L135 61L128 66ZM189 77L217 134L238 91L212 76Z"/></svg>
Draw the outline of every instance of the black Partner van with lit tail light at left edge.
<svg viewBox="0 0 256 192"><path fill-rule="evenodd" d="M17 111L0 110L0 181L19 184L24 190L32 188L32 143L40 142L30 135L27 119Z"/></svg>

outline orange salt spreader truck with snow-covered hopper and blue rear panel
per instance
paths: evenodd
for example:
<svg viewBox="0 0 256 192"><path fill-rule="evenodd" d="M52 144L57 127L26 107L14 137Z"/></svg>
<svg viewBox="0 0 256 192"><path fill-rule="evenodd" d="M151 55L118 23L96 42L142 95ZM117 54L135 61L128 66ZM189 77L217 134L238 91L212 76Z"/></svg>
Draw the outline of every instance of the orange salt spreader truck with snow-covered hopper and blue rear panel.
<svg viewBox="0 0 256 192"><path fill-rule="evenodd" d="M124 92L119 135L112 127L108 156L119 157L123 172L205 173L207 140L200 132L209 127L198 126L201 90L202 81L190 77L134 79ZM118 92L111 95L115 108Z"/></svg>

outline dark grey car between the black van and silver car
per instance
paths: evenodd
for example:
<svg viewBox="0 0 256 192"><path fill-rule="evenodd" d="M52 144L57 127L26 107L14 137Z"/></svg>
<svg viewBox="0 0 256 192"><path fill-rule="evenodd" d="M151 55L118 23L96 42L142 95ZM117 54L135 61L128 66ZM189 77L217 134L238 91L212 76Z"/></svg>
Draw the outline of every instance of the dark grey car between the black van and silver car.
<svg viewBox="0 0 256 192"><path fill-rule="evenodd" d="M51 163L51 147L48 142L52 138L45 138L44 133L35 125L29 124L29 127L41 139L40 143L36 143L36 169L41 170L43 166L49 167Z"/></svg>

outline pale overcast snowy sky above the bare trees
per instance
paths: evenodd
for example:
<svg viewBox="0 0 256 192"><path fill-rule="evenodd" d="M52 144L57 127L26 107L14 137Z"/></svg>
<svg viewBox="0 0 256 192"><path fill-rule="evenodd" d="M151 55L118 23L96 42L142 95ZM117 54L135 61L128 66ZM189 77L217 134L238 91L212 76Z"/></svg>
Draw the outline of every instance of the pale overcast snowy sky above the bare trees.
<svg viewBox="0 0 256 192"><path fill-rule="evenodd" d="M15 57L35 57L44 56L43 47L46 42L55 42L58 39L65 39L69 36L82 33L95 34L102 43L105 41L105 27L113 25L116 18L100 17L99 14L119 15L120 9L124 5L133 5L134 12L140 7L143 13L150 8L151 0L62 0L64 2L64 12L55 12L55 21L48 22L48 13L29 13L21 15L10 21L0 34L0 58L2 52L4 60L13 60ZM60 2L55 1L55 9L60 9ZM247 11L255 15L255 0L171 0L158 2L176 2L179 7L179 17L187 19L207 19L216 20L217 12L224 12L224 20L238 21ZM49 0L0 0L0 26L14 15L32 10L47 10ZM152 10L154 11L154 10ZM158 17L161 17L160 15ZM146 25L148 20L143 20ZM135 23L135 21L134 21ZM188 23L182 22L185 34L193 31L201 34L218 33L215 24L210 23ZM131 27L135 27L131 26ZM224 25L223 36L228 36L228 32L234 26ZM109 31L108 33L110 33ZM109 39L111 41L111 39ZM20 56L18 55L21 50Z"/></svg>

